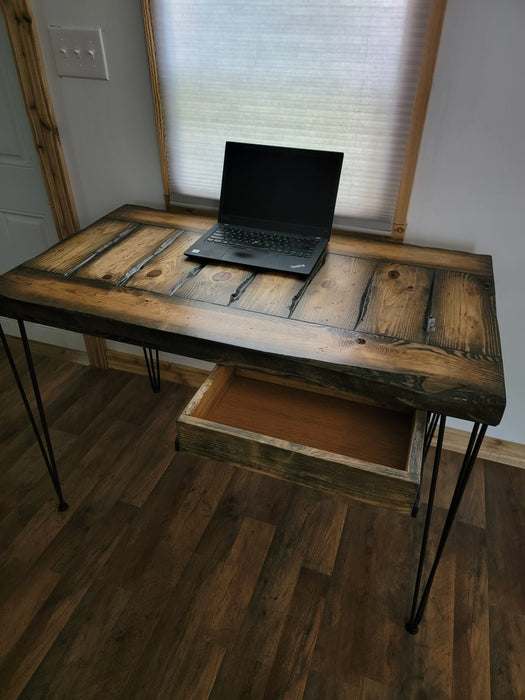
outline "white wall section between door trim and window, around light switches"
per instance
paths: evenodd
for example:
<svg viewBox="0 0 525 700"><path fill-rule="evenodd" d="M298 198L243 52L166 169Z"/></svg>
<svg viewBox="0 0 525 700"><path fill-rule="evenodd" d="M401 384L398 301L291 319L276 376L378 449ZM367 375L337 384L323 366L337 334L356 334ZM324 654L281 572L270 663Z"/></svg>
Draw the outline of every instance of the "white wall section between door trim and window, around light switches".
<svg viewBox="0 0 525 700"><path fill-rule="evenodd" d="M121 204L164 207L140 0L33 0L80 223ZM56 74L48 27L102 27L109 80Z"/></svg>

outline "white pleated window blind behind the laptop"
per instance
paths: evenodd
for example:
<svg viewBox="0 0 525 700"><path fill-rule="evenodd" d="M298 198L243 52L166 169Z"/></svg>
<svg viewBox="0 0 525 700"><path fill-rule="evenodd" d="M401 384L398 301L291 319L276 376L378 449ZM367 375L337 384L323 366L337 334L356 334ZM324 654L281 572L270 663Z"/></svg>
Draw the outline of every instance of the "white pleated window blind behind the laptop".
<svg viewBox="0 0 525 700"><path fill-rule="evenodd" d="M343 151L338 225L389 231L429 0L154 0L173 203L216 206L227 140Z"/></svg>

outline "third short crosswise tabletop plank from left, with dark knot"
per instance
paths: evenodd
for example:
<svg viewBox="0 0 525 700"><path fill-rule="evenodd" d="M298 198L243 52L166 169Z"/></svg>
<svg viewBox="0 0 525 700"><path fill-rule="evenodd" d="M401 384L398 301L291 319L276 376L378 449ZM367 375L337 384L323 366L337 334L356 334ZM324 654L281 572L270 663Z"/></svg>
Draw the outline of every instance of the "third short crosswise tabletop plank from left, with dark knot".
<svg viewBox="0 0 525 700"><path fill-rule="evenodd" d="M193 231L182 231L173 243L134 274L126 286L157 294L172 294L187 277L201 268L199 263L183 255L199 236Z"/></svg>

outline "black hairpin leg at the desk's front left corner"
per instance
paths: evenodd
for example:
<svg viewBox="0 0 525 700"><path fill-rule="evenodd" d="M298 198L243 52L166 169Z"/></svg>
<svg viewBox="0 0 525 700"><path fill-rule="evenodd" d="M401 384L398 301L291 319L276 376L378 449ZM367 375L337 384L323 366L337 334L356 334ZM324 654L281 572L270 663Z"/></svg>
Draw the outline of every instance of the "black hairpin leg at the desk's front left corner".
<svg viewBox="0 0 525 700"><path fill-rule="evenodd" d="M51 481L53 482L53 486L55 487L55 491L56 491L57 496L58 496L58 510L64 511L64 510L67 510L68 504L64 501L64 497L62 496L62 488L60 486L60 480L58 478L58 471L57 471L57 467L56 467L56 463L55 463L55 455L53 454L53 446L51 444L51 438L49 436L46 415L44 413L44 406L42 404L42 398L40 396L40 389L38 388L38 381L37 381L37 377L36 377L36 373L35 373L35 367L33 365L33 358L31 357L31 349L29 347L29 342L27 340L24 322L18 321L18 327L20 328L20 337L22 338L22 344L24 347L24 353L25 353L25 357L26 357L27 367L29 369L29 374L31 376L31 383L33 385L35 402L36 402L36 406L37 406L37 410L38 410L38 415L40 417L41 430L38 427L38 423L36 421L36 418L33 414L33 411L31 410L31 406L29 404L27 394L24 390L22 381L20 379L20 375L18 374L18 370L17 370L16 365L15 365L15 361L13 359L13 356L11 354L11 350L9 349L9 345L7 343L7 338L5 337L5 334L4 334L4 331L3 331L1 325L0 325L0 336L2 339L2 344L3 344L4 349L5 349L5 353L7 355L7 359L9 361L9 365L11 366L13 376L15 378L16 384L18 386L18 390L20 392L20 396L22 397L22 401L24 402L24 406L26 408L27 415L29 416L29 420L31 422L33 432L35 433L35 437L36 437L36 440L38 442L38 446L40 447L40 451L42 452L42 457L44 458L44 462L46 463L46 467L47 467L47 470L49 472L49 476L51 477Z"/></svg>

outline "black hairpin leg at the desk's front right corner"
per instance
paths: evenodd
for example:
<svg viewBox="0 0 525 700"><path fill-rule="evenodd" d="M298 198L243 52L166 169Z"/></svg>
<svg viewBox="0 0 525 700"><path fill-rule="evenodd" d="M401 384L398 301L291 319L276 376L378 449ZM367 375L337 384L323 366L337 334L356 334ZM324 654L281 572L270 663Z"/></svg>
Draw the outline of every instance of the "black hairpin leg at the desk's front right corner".
<svg viewBox="0 0 525 700"><path fill-rule="evenodd" d="M426 554L426 548L427 548L427 542L428 542L428 533L430 529L430 520L432 518L432 509L434 506L434 494L436 490L436 483L437 483L437 475L439 471L439 462L441 459L441 450L443 446L443 434L445 431L445 416L441 416L440 423L439 423L439 433L438 433L438 439L437 439L437 446L436 446L436 455L434 458L434 470L432 472L432 482L430 484L430 494L429 494L429 499L428 499L428 510L427 510L427 516L425 519L425 528L423 531L423 539L421 542L421 552L419 555L419 564L418 564L418 570L417 570L417 576L416 576L416 584L414 587L414 598L412 601L412 610L410 613L410 620L406 623L406 629L408 632L411 634L417 634L418 630L418 625L421 622L421 618L423 617L423 613L425 611L425 607L428 601L428 596L430 594L430 589L432 587L432 583L434 581L434 576L436 575L436 571L438 568L439 561L441 559L441 555L443 554L443 550L445 549L445 544L447 542L448 536L450 534L450 530L452 528L452 524L454 522L454 518L456 517L456 513L459 508L459 504L461 503L461 499L463 497L463 493L465 491L465 487L467 486L470 474L472 472L472 468L474 467L474 464L476 462L479 449L481 447L481 443L483 442L483 438L485 437L485 432L487 430L487 426L481 423L475 423L474 427L472 428L472 433L470 436L470 441L467 447L467 450L465 452L465 457L463 458L463 464L461 465L461 469L458 475L458 480L456 482L456 488L454 489L454 494L452 496L452 500L450 501L450 506L448 509L447 517L445 519L445 524L443 526L443 531L441 533L441 538L439 540L439 544L436 550L436 555L434 557L434 562L432 564L432 568L430 569L430 573L428 575L428 579L425 585L425 588L423 590L423 593L421 595L421 599L418 603L418 597L419 597L419 589L421 586L421 577L423 573L423 565L425 561L425 554Z"/></svg>

